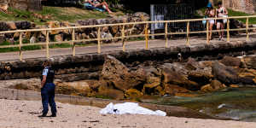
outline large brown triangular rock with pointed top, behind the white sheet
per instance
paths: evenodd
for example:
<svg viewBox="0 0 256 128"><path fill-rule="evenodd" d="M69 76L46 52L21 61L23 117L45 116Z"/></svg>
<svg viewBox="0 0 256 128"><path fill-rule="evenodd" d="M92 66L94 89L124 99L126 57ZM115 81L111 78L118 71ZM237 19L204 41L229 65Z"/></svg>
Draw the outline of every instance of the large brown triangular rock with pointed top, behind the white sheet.
<svg viewBox="0 0 256 128"><path fill-rule="evenodd" d="M112 81L114 86L119 90L129 90L137 85L143 84L145 76L136 72L130 72L128 67L107 55L102 69L102 79Z"/></svg>

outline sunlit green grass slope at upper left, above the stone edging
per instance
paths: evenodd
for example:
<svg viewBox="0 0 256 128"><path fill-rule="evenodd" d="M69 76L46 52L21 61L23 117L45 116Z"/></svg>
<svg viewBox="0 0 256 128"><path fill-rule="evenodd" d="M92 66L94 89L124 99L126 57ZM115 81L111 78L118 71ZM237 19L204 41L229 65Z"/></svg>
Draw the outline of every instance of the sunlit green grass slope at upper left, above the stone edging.
<svg viewBox="0 0 256 128"><path fill-rule="evenodd" d="M49 19L38 18L34 14L48 16ZM114 12L113 15L124 15L122 12ZM0 12L0 20L29 20L38 25L43 25L49 20L69 21L86 20L90 18L101 19L108 17L107 12L99 12L96 10L87 10L75 7L49 7L44 6L42 11L29 12L18 9L9 9L9 14Z"/></svg>

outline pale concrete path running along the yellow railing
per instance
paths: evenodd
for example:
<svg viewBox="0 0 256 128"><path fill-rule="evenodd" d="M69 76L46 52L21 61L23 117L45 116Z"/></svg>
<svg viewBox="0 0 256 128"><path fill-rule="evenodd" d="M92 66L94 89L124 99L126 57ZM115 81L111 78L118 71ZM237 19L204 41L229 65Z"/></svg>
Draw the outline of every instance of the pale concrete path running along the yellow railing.
<svg viewBox="0 0 256 128"><path fill-rule="evenodd" d="M239 37L231 37L230 43L235 42L245 42L245 36ZM256 37L250 38L248 42L256 41ZM207 44L206 38L189 38L189 43L191 46L198 45L198 44ZM211 44L216 43L227 43L226 38L223 41L218 41L218 38L211 40ZM179 46L185 45L186 39L172 39L168 40L168 47L172 46ZM149 40L148 48L163 48L166 46L166 41L164 39L158 40ZM133 41L133 42L126 42L125 49L144 49L145 48L145 41ZM102 53L114 52L122 50L121 43L113 43L113 44L102 44ZM76 47L76 55L81 54L92 54L97 52L97 45L86 46L86 47ZM28 58L40 58L46 57L46 50L45 49L38 49L38 50L30 50L30 51L23 51L23 59ZM61 48L61 49L50 49L49 50L50 57L59 56L59 55L72 55L72 48ZM20 59L19 52L8 52L8 53L0 53L0 61L18 61Z"/></svg>

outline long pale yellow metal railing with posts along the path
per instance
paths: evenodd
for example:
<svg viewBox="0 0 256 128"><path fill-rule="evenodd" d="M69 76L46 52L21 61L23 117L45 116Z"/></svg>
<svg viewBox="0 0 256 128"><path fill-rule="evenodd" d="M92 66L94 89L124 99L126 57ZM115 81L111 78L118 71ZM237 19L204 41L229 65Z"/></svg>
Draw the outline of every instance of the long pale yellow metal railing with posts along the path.
<svg viewBox="0 0 256 128"><path fill-rule="evenodd" d="M125 51L125 38L139 38L143 37L145 38L145 49L148 49L148 39L152 36L164 36L166 38L166 48L168 47L168 36L170 35L186 35L186 44L189 44L189 35L195 34L195 33L209 33L208 27L209 22L208 20L224 20L227 19L227 28L222 30L212 30L212 32L227 32L227 42L230 42L230 32L232 31L246 31L246 39L249 39L249 30L256 29L256 27L249 27L249 19L250 18L256 18L256 15L249 15L249 16L232 16L227 18L208 18L208 19L188 19L188 20L157 20L157 21L141 21L141 22L129 22L129 23L119 23L119 24L104 24L104 25L94 25L94 26L71 26L71 27L56 27L56 28L44 28L44 29L28 29L28 30L15 30L15 31L3 31L0 32L0 34L6 34L6 33L20 33L19 37L19 44L13 44L13 45L2 45L0 46L0 49L3 48L15 48L18 47L20 50L20 61L22 61L22 47L24 46L32 46L32 45L45 45L46 47L46 57L49 58L49 44L72 44L72 55L75 55L75 45L79 42L90 42L90 41L96 41L97 42L97 53L102 52L102 41L103 40L111 40L111 39L121 39L123 43L123 51ZM235 28L230 29L230 19L246 19L246 28ZM206 31L193 31L191 32L189 30L190 23L193 21L202 21L207 20L207 30ZM186 32L171 32L170 27L168 27L168 24L170 23L177 23L177 22L185 22L187 24L186 26ZM163 33L148 33L149 26L151 24L156 23L164 23L165 24L165 30ZM144 25L144 31L143 34L137 34L137 35L125 35L125 26L135 26L135 25ZM121 36L114 37L114 38L101 38L101 32L102 27L104 26L121 26ZM97 37L96 38L90 38L90 39L78 39L75 38L75 30L76 29L83 29L83 28L96 28L97 29ZM72 39L70 41L59 41L59 42L49 42L49 32L50 31L61 31L61 30L72 30ZM46 32L46 41L40 42L36 44L23 44L22 40L22 33L24 32ZM210 44L210 38L207 34L207 44Z"/></svg>

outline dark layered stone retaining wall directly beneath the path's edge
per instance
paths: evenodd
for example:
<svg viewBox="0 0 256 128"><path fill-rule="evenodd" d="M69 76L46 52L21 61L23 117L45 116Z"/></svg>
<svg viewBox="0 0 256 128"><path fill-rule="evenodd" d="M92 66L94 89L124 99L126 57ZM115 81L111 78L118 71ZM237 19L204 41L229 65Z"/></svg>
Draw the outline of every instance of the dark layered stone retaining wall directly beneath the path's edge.
<svg viewBox="0 0 256 128"><path fill-rule="evenodd" d="M178 61L177 54L183 55L183 61L188 57L197 60L215 60L224 55L238 56L247 52L254 54L256 42L254 43L232 43L232 44L201 44L197 46L179 46L169 49L137 49L127 52L115 52L113 55L125 65L133 67L137 63L150 65L150 61L172 62ZM78 81L84 79L99 79L106 54L90 54L77 56L57 56L52 59L56 78L63 81ZM43 58L27 59L25 61L0 62L0 80L4 79L28 79L39 78L42 71ZM149 62L148 62L149 61Z"/></svg>

